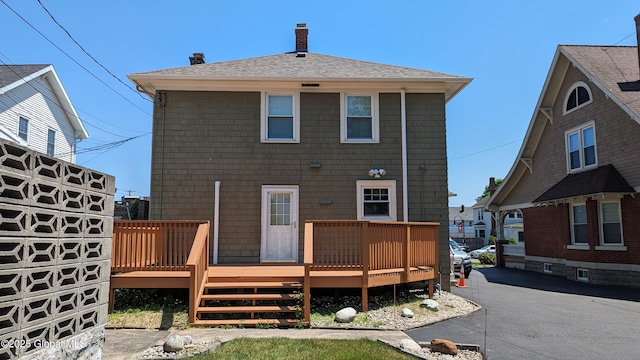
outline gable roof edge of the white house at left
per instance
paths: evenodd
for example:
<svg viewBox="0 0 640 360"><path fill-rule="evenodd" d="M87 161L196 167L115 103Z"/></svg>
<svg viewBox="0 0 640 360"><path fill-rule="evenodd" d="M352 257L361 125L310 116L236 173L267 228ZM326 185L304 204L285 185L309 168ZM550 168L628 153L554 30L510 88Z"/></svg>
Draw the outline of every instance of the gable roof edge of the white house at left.
<svg viewBox="0 0 640 360"><path fill-rule="evenodd" d="M75 137L77 139L87 139L89 134L71 104L67 92L62 87L53 65L0 65L0 96L41 76L46 77L49 85L51 85L51 89L57 98L55 99L57 100L56 102L60 104L71 126L74 128Z"/></svg>

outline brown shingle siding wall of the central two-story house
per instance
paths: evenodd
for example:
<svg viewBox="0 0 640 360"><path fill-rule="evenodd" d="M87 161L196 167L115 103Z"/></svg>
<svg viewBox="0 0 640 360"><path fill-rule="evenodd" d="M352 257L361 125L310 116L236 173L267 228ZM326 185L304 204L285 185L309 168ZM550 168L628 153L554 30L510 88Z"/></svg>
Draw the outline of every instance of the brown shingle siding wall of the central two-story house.
<svg viewBox="0 0 640 360"><path fill-rule="evenodd" d="M257 263L263 185L299 186L299 224L356 219L356 181L371 180L369 169L384 168L383 179L396 181L397 213L402 219L399 93L379 95L380 142L364 144L340 143L339 92L300 94L299 144L262 143L260 96L259 92L166 93L166 106L154 107L151 218L213 219L214 182L220 180L219 262ZM446 223L439 220L447 214L444 98L407 94L407 113L409 186L415 191L410 198L415 215L410 220ZM420 186L425 188L422 212ZM298 228L302 259L303 227Z"/></svg>

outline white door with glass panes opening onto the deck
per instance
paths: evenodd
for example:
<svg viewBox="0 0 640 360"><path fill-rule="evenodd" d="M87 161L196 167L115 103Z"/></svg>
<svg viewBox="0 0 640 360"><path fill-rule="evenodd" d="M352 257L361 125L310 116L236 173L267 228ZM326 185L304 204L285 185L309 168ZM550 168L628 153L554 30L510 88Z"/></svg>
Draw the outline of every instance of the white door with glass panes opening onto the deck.
<svg viewBox="0 0 640 360"><path fill-rule="evenodd" d="M298 187L262 187L262 261L298 261Z"/></svg>

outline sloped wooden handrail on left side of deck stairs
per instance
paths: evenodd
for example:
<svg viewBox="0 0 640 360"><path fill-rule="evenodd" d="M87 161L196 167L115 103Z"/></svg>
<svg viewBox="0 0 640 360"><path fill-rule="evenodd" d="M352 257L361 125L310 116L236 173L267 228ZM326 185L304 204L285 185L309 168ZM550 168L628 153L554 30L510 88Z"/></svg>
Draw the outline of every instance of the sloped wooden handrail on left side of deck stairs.
<svg viewBox="0 0 640 360"><path fill-rule="evenodd" d="M198 226L198 230L187 259L189 269L189 322L196 321L197 308L207 283L209 273L209 226L206 221Z"/></svg>

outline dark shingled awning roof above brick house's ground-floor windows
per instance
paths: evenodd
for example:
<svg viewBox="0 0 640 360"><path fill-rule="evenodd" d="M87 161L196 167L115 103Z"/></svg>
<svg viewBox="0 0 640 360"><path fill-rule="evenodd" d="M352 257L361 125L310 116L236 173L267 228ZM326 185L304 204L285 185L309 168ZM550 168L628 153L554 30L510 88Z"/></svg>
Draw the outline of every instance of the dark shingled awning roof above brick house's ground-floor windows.
<svg viewBox="0 0 640 360"><path fill-rule="evenodd" d="M558 201L577 196L592 196L606 193L635 193L635 190L612 164L589 171L569 174L533 200L533 203Z"/></svg>

